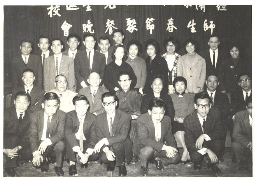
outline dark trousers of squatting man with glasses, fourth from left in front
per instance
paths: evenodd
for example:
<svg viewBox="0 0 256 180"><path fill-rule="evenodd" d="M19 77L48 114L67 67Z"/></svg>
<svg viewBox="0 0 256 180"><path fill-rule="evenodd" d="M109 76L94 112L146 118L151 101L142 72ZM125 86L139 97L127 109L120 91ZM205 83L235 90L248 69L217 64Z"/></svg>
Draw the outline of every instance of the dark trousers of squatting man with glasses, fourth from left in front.
<svg viewBox="0 0 256 180"><path fill-rule="evenodd" d="M116 156L116 166L121 166L121 164L125 161L125 148L122 142L114 143L111 146L115 156ZM105 164L109 164L111 161L107 159L106 153L100 152L100 161Z"/></svg>

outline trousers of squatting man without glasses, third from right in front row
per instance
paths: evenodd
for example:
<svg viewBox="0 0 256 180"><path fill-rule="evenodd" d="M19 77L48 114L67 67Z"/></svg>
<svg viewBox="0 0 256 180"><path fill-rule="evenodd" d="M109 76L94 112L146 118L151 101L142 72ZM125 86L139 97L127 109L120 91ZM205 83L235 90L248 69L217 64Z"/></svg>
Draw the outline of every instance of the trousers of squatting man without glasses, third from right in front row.
<svg viewBox="0 0 256 180"><path fill-rule="evenodd" d="M159 157L164 165L179 164L181 160L181 157L179 156L179 154L177 154L174 157L167 157L165 150L158 152L154 150L153 147L150 147L150 146L141 146L137 150L137 153L135 155L140 158L141 164L145 167L147 167L148 161L152 157Z"/></svg>

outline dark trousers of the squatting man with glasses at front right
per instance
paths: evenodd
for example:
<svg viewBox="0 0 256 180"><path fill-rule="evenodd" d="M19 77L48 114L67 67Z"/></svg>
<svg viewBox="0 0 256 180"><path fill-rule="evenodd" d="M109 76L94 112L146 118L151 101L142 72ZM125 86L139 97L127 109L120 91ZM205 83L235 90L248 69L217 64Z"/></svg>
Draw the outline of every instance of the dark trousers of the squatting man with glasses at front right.
<svg viewBox="0 0 256 180"><path fill-rule="evenodd" d="M214 152L216 154L217 157L220 156L221 154L221 150L222 150L222 140L218 139L218 140L213 140L213 141L209 141L207 142L206 140L203 142L203 147L206 147L207 149L212 150L212 152ZM188 152L189 152L189 156L191 158L191 161L194 163L198 163L200 161L203 161L203 157L207 156L207 153L202 155L199 152L197 152L197 150L194 149L190 149L189 147L187 147ZM207 158L208 159L208 158ZM209 162L211 163L211 162Z"/></svg>

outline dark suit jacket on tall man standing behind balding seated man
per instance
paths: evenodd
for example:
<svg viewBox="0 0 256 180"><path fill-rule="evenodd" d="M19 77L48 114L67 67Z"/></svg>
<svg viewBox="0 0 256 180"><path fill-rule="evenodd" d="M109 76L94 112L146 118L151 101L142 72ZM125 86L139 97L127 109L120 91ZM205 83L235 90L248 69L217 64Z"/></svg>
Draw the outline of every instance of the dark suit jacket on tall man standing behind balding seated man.
<svg viewBox="0 0 256 180"><path fill-rule="evenodd" d="M86 51L77 52L77 54L75 55L74 63L75 79L77 80L77 91L79 91L79 89L82 89L81 82L83 80L87 84L87 86L89 86L87 79L89 79L89 75L92 72L98 73L100 75L100 78L103 79L104 69L106 66L106 58L104 54L98 51L94 51L93 65L91 67L91 71L89 69L89 60Z"/></svg>

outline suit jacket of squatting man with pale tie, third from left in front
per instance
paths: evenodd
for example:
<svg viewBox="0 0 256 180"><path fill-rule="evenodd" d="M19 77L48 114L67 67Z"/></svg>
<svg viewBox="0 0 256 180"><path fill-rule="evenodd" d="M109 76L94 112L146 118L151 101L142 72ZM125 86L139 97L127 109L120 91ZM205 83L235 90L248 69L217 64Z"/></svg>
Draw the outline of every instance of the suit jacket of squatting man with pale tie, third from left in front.
<svg viewBox="0 0 256 180"><path fill-rule="evenodd" d="M94 148L97 143L96 127L95 127L96 115L86 112L83 124L84 137L88 141L91 147ZM68 142L71 148L79 146L75 133L79 130L79 119L75 110L69 112L66 117L64 135L65 141Z"/></svg>

